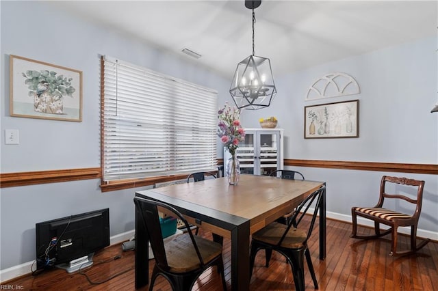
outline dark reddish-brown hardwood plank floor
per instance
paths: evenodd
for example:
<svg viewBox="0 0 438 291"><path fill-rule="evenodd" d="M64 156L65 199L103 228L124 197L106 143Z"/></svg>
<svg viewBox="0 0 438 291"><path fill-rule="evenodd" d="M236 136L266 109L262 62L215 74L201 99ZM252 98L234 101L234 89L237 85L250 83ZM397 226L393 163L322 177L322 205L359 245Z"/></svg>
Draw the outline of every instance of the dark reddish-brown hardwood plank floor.
<svg viewBox="0 0 438 291"><path fill-rule="evenodd" d="M370 229L360 227L362 232ZM438 243L430 242L415 255L390 257L389 236L380 240L350 238L351 224L327 220L327 258L318 258L318 227L313 230L309 249L313 258L319 290L438 290ZM211 238L210 233L200 234ZM409 239L399 236L400 249L409 247ZM120 259L114 260L117 255ZM230 242L224 240L224 264L227 288L231 286ZM295 290L292 271L279 253L273 253L270 267L265 268L264 251L257 254L250 290ZM68 274L61 269L26 275L4 282L21 290L135 290L134 252L123 252L120 245L107 247L94 255L94 265L79 273ZM149 262L150 270L153 260ZM114 277L116 276L116 277ZM110 279L114 277L113 279ZM102 283L101 283L102 282ZM306 266L306 290L313 283ZM141 290L147 290L142 288ZM153 290L170 290L163 277ZM193 290L222 290L216 269L209 269L196 282Z"/></svg>

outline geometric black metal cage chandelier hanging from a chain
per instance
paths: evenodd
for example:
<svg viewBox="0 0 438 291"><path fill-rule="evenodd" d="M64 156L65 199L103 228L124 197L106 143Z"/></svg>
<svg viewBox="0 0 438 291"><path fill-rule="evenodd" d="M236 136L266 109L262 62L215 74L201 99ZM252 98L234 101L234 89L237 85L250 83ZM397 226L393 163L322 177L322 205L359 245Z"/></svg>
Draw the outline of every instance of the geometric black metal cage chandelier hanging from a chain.
<svg viewBox="0 0 438 291"><path fill-rule="evenodd" d="M254 55L254 9L261 1L245 1L245 7L253 10L253 54L240 61L230 87L238 109L256 110L268 107L276 94L270 60Z"/></svg>

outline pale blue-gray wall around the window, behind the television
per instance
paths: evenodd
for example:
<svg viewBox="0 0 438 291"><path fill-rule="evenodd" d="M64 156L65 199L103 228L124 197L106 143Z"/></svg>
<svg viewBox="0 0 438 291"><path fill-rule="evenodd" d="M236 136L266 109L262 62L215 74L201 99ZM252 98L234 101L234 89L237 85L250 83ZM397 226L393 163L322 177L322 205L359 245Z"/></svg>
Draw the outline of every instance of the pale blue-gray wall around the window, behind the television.
<svg viewBox="0 0 438 291"><path fill-rule="evenodd" d="M38 1L1 1L1 172L100 166L100 55L110 55L216 89L229 98L229 80L186 57L73 18ZM36 19L38 16L38 19ZM10 117L9 55L83 72L83 122ZM20 144L5 145L5 129ZM218 146L219 147L219 146ZM100 180L1 189L0 269L35 259L35 223L110 208L110 235L133 230L133 195L141 189L101 193Z"/></svg>

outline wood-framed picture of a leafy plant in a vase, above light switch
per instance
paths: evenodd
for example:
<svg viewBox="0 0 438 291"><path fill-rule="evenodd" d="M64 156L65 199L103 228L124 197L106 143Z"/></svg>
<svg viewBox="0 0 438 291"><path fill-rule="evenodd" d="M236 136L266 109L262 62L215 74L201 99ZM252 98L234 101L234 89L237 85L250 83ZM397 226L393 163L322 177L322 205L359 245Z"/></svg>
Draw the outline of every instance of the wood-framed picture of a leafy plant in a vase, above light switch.
<svg viewBox="0 0 438 291"><path fill-rule="evenodd" d="M10 55L10 115L82 121L82 72Z"/></svg>

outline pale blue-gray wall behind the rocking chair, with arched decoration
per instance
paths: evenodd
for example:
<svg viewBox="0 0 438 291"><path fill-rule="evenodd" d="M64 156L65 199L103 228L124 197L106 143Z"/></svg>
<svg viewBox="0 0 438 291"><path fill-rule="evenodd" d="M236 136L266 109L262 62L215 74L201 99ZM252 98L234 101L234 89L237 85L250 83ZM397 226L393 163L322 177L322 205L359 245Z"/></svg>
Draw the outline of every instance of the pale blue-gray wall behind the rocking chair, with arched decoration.
<svg viewBox="0 0 438 291"><path fill-rule="evenodd" d="M285 158L381 163L438 163L437 38L389 47L276 78L279 93L271 107L245 112L242 124L257 127L259 117L276 116L284 128ZM272 65L272 70L275 69ZM361 93L305 101L319 77L345 72ZM304 107L359 99L359 138L303 139ZM374 206L381 176L425 180L419 227L438 238L438 176L297 167L305 178L327 182L331 217L350 220L351 206Z"/></svg>

